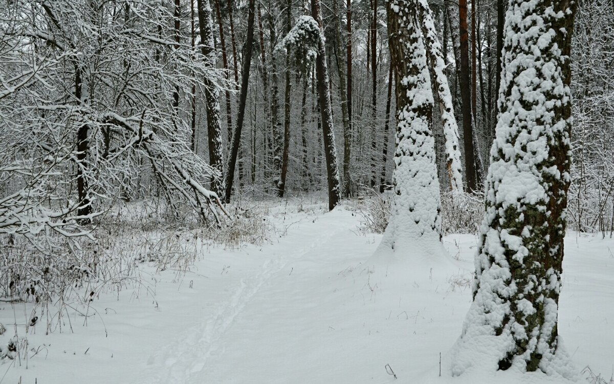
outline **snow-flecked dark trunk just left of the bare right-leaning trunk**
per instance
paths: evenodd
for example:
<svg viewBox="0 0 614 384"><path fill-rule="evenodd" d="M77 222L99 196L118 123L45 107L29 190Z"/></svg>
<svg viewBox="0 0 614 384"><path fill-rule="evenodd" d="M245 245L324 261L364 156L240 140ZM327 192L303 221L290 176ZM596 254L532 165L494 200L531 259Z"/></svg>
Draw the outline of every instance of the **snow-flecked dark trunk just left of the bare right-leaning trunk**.
<svg viewBox="0 0 614 384"><path fill-rule="evenodd" d="M200 27L201 50L209 68L216 67L216 54L213 43L211 7L206 0L198 0L198 26ZM203 79L204 98L207 109L207 131L209 134L209 163L219 174L211 178L211 190L223 198L222 178L222 127L220 125L220 92L215 84L206 77Z"/></svg>

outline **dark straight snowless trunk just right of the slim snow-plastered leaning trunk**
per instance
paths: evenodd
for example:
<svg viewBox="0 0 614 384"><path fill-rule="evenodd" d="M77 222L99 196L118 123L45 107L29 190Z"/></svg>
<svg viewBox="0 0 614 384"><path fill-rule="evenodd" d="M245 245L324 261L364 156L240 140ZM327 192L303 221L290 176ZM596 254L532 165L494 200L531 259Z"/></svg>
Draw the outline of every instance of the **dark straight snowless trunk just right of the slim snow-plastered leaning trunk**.
<svg viewBox="0 0 614 384"><path fill-rule="evenodd" d="M461 36L461 98L463 139L465 143L465 177L467 190L476 190L475 152L473 149L473 125L471 119L471 83L469 79L469 42L467 32L467 0L459 0L459 26Z"/></svg>

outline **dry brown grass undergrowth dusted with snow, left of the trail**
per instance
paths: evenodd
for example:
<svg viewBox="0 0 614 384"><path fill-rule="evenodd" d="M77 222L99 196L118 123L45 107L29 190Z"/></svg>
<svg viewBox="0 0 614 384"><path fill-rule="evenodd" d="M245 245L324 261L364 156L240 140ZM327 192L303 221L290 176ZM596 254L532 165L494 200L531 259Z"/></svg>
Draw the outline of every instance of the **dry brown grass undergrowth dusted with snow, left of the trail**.
<svg viewBox="0 0 614 384"><path fill-rule="evenodd" d="M0 321L0 334L6 337L0 341L0 358L21 364L36 355L39 347L28 342L32 329L74 332L71 316L82 317L81 325L101 320L95 304L101 296L119 298L127 291L155 302L155 275L169 270L180 280L208 248L271 242L276 228L268 221L268 206L246 201L227 208L230 217L219 226L199 223L190 211L171 215L156 202L122 204L96 219L95 240L76 246L58 237L55 244L63 247L47 255L23 238L0 238L1 309L10 305L13 310L12 318Z"/></svg>

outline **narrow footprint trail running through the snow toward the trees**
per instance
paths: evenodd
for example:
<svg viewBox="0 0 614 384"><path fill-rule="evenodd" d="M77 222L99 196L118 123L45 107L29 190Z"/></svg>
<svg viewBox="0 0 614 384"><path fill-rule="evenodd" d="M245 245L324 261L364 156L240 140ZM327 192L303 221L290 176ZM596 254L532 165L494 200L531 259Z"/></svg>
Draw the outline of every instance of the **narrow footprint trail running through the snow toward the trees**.
<svg viewBox="0 0 614 384"><path fill-rule="evenodd" d="M320 247L340 232L355 227L355 221L340 225L339 221L327 223L327 217L319 217L317 224L303 220L288 230L278 243L263 246L266 261L257 275L241 278L230 299L218 303L202 321L184 332L173 345L153 353L147 361L148 369L140 375L142 383L201 383L199 374L206 369L209 358L223 350L220 339L241 316L246 305L258 294L263 285L271 283L274 276L284 270L290 261L300 260L312 249ZM297 246L300 249L296 249ZM207 292L203 292L207 294Z"/></svg>

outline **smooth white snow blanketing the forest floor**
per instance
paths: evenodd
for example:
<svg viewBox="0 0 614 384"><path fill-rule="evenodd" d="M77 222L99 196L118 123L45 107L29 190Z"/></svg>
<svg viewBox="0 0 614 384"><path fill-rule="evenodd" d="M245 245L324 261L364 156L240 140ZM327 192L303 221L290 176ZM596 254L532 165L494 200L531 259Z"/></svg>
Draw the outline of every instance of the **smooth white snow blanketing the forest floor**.
<svg viewBox="0 0 614 384"><path fill-rule="evenodd" d="M17 330L29 353L2 360L0 383L466 381L446 362L472 299L475 236L446 236L448 255L401 274L373 262L381 235L361 235L351 207L283 210L272 243L203 248L185 275L142 264L141 283L97 295L85 313L66 303L27 334L31 307L3 303L2 343ZM565 247L559 334L578 372L609 378L614 240L570 233ZM518 382L510 375L496 380Z"/></svg>

